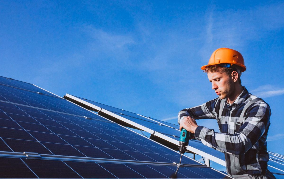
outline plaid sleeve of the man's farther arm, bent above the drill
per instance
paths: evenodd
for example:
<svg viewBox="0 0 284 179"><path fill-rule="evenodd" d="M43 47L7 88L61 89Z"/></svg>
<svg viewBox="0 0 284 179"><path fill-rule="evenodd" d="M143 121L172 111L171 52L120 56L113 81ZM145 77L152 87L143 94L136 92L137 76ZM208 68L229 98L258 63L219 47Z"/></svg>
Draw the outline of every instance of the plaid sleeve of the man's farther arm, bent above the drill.
<svg viewBox="0 0 284 179"><path fill-rule="evenodd" d="M190 116L193 119L216 119L214 108L219 98L208 101L200 106L193 108L186 108L178 113L178 123L180 123L185 117Z"/></svg>

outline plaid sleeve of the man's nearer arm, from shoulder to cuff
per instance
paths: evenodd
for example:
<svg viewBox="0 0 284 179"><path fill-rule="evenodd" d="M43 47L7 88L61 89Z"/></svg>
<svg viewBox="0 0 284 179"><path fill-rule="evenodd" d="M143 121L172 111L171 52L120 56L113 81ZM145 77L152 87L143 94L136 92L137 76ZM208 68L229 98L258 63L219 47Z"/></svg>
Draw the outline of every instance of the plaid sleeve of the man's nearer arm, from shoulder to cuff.
<svg viewBox="0 0 284 179"><path fill-rule="evenodd" d="M248 108L246 119L237 133L220 133L198 126L195 130L195 138L204 140L218 151L240 155L248 151L268 130L270 115L268 104L258 101Z"/></svg>

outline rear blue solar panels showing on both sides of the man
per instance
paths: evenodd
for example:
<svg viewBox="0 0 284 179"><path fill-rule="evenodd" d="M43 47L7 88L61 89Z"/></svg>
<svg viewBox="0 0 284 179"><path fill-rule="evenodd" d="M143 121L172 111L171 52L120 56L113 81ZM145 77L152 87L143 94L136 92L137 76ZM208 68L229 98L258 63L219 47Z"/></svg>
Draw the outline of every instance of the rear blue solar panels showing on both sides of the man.
<svg viewBox="0 0 284 179"><path fill-rule="evenodd" d="M147 128L160 132L162 134L164 134L165 136L171 136L173 139L175 140L179 140L179 128L177 125L174 124L170 124L164 121L160 121L157 119L153 119L153 118L149 118L149 117L145 117L143 115L139 115L136 113L132 113L130 111L126 111L124 109L119 109L119 108L115 108L112 106L108 106L105 104L101 104L98 102L94 102L91 100L87 100L85 98L81 98L78 96L72 96L70 94L66 94L66 96L64 96L64 98L71 100L72 102L77 103L78 105L82 105L82 106L89 106L90 109L96 109L97 111L104 111L103 109L110 111L111 113L113 113L115 117L117 116L121 116L125 119L129 119L130 121L133 121L137 124L141 124L142 126L147 126ZM110 114L110 113L108 113ZM178 144L178 143L176 143ZM204 146L201 142L197 141L197 140L191 140L189 142L189 146L195 148L195 149L199 149L201 151L203 151L204 153L208 154L206 155L206 157L208 157L209 159L214 159L213 157L217 157L221 160L225 160L224 159L224 154L221 152L218 152L214 149L208 148L206 146ZM202 154L201 154L202 155ZM279 179L284 179L284 156L280 155L280 154L276 154L273 152L269 152L269 156L270 156L270 160L268 162L268 169L273 172L273 174L276 176L276 178ZM225 161L223 163L220 163L219 161L216 161L217 163L224 165Z"/></svg>

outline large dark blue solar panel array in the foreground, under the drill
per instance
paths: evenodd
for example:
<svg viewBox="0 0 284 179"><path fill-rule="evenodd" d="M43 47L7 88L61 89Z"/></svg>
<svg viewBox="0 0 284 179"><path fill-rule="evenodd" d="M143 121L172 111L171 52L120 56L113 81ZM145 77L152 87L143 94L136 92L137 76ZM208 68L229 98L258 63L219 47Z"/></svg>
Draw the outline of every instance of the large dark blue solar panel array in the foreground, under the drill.
<svg viewBox="0 0 284 179"><path fill-rule="evenodd" d="M158 142L35 85L0 79L0 178L226 177L187 156L179 166L180 154Z"/></svg>

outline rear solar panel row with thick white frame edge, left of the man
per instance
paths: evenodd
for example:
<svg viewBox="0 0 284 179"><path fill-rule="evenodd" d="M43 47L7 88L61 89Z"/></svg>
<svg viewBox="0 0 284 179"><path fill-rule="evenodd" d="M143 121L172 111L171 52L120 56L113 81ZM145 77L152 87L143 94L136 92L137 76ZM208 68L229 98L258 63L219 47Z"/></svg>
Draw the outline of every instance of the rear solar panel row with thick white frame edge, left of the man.
<svg viewBox="0 0 284 179"><path fill-rule="evenodd" d="M86 109L97 111L104 116L121 125L144 130L151 134L151 139L164 144L174 150L179 150L179 126L164 121L145 117L124 109L114 108L105 104L66 94L65 99L70 100ZM225 165L224 154L203 145L200 141L190 140L187 151L206 157L223 166Z"/></svg>

